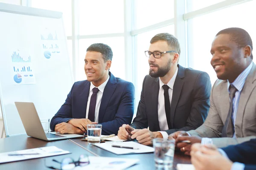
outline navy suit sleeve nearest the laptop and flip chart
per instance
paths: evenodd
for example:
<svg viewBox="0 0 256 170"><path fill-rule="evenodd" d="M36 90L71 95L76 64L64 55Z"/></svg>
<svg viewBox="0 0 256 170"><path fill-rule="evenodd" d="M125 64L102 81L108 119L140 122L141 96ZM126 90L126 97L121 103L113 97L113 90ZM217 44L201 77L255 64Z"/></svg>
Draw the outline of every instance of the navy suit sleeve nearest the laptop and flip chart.
<svg viewBox="0 0 256 170"><path fill-rule="evenodd" d="M62 122L67 122L72 119L72 91L76 83L73 84L70 93L67 95L67 99L58 112L52 117L50 128L54 131L55 126Z"/></svg>

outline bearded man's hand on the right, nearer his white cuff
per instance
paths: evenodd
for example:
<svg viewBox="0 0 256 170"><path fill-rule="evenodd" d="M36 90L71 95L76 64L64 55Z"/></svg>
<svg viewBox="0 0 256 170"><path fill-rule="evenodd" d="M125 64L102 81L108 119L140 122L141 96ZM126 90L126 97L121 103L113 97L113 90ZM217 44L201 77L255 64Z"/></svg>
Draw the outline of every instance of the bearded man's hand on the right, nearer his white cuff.
<svg viewBox="0 0 256 170"><path fill-rule="evenodd" d="M131 131L131 139L137 139L140 144L152 145L152 139L163 138L160 132L151 132L148 129L135 129Z"/></svg>

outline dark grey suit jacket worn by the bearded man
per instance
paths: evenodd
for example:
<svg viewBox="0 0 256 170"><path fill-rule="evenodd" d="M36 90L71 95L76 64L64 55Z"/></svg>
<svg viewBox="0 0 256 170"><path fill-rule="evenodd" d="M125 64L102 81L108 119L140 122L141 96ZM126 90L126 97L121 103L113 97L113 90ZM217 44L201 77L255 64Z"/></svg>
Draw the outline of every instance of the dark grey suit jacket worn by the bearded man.
<svg viewBox="0 0 256 170"><path fill-rule="evenodd" d="M171 134L178 130L193 130L201 126L209 110L211 82L209 75L192 68L178 65L171 102L172 129L166 130ZM131 127L151 131L159 131L158 121L159 78L145 76L138 105L137 116Z"/></svg>

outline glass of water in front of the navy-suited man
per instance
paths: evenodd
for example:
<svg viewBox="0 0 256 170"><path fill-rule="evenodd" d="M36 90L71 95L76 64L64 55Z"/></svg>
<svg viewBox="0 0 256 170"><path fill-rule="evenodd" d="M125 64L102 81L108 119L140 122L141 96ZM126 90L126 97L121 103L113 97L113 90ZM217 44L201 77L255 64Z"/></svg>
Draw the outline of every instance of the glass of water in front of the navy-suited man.
<svg viewBox="0 0 256 170"><path fill-rule="evenodd" d="M87 141L89 144L100 143L102 125L90 124L87 125Z"/></svg>

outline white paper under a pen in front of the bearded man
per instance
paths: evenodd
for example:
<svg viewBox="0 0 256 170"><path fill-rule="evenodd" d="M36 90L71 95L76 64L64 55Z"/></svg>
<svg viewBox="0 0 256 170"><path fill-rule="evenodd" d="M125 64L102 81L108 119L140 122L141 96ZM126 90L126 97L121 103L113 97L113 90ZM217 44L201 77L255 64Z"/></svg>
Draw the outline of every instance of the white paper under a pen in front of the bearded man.
<svg viewBox="0 0 256 170"><path fill-rule="evenodd" d="M115 153L117 155L122 154L130 154L130 153L150 153L154 152L153 147L145 146L138 142L111 142L111 143L98 143L94 144L97 147L100 147L104 150L108 150L109 152ZM112 147L112 145L119 145L123 147L134 147L139 149L127 149L127 148L120 148L120 147Z"/></svg>

